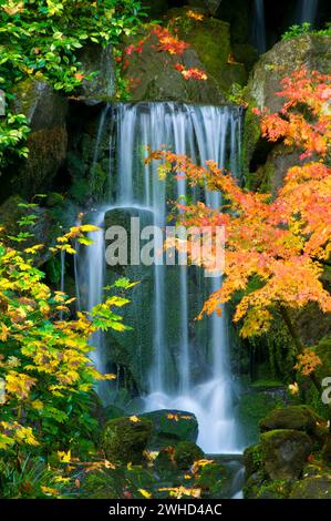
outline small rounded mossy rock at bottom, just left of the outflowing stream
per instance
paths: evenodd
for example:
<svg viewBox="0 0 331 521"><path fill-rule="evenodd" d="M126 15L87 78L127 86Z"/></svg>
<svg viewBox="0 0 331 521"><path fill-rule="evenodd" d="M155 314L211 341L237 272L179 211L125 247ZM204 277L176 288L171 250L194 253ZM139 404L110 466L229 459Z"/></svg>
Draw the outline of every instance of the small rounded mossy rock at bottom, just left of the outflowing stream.
<svg viewBox="0 0 331 521"><path fill-rule="evenodd" d="M227 499L231 492L232 476L221 463L209 463L201 468L196 484L201 488L203 498Z"/></svg>

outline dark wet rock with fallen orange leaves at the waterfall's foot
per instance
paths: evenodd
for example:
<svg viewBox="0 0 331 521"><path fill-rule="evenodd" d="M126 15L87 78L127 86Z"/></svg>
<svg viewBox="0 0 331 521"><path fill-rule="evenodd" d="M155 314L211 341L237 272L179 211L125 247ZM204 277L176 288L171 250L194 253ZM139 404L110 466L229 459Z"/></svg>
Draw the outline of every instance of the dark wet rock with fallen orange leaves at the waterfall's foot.
<svg viewBox="0 0 331 521"><path fill-rule="evenodd" d="M179 441L196 442L198 438L198 421L192 412L163 409L145 412L139 418L153 422L153 436L148 442L153 449L177 445Z"/></svg>

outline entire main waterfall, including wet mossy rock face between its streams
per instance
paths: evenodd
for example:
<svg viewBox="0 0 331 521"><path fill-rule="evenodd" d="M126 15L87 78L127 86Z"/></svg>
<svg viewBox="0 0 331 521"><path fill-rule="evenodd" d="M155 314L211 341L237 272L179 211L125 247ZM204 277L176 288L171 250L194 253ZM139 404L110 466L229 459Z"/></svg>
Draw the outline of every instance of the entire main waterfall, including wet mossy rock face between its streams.
<svg viewBox="0 0 331 521"><path fill-rule="evenodd" d="M141 227L167 224L168 202L205 200L221 204L219 193L188 187L183 178L161 180L157 162L145 164L147 146L166 146L186 154L198 164L215 161L240 175L241 109L194 106L175 102L116 103L101 116L95 145L95 165L107 149L110 177L107 196L100 202L93 222L102 229L91 234L94 244L80 252L77 277L80 302L91 309L118 267L105 262L105 232L110 225L128 225L138 217ZM198 193L200 191L200 193ZM123 268L123 267L122 267ZM204 297L216 290L220 278L204 276L195 266L125 266L125 276L141 280L134 288L134 308L128 320L133 359L131 376L142 398L141 411L178 409L196 415L198 445L207 453L240 452L236 421L236 385L230 369L226 310L195 321ZM122 269L123 275L123 269ZM126 334L122 334L122 337ZM99 335L92 339L92 359L99 370L116 367L116 389L100 389L102 399L114 400L123 368L116 360L116 339Z"/></svg>

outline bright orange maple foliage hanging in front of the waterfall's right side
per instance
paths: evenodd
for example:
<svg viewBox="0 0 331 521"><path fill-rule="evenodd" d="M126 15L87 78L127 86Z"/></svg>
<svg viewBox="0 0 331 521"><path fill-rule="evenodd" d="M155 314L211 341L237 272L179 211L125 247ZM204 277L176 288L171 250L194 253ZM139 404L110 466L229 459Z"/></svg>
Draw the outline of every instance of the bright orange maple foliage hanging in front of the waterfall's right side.
<svg viewBox="0 0 331 521"><path fill-rule="evenodd" d="M224 304L239 296L234 320L242 323L244 337L266 333L275 311L281 309L298 310L316 303L323 313L331 311L331 295L321 282L323 263L331 254L331 170L327 162L331 76L301 69L283 80L277 95L285 99L279 113L256 111L262 133L270 141L297 146L301 159L310 157L310 162L287 172L275 198L241 188L211 159L197 166L187 156L162 150L152 152L148 160L162 160L163 170L186 176L192 185L207 182L209 190L224 194L224 207L213 210L204 202L180 205L178 219L186 226L225 227L224 280L201 315L220 314Z"/></svg>

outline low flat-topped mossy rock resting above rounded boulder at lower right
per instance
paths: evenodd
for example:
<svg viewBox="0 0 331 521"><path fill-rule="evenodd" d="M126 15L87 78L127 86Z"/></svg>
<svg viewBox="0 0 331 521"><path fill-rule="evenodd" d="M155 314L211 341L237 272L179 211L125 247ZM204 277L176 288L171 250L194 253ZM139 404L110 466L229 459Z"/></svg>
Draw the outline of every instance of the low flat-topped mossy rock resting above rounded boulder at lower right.
<svg viewBox="0 0 331 521"><path fill-rule="evenodd" d="M275 429L293 429L314 435L317 427L317 415L308 406L289 406L277 408L260 420L261 432Z"/></svg>

